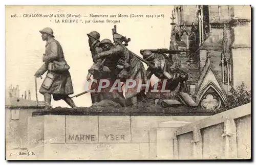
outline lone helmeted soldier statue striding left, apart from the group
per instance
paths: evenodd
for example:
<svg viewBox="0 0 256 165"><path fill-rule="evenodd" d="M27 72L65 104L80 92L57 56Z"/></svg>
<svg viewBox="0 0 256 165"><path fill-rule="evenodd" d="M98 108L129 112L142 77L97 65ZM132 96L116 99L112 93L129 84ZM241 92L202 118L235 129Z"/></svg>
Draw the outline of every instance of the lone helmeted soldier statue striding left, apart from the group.
<svg viewBox="0 0 256 165"><path fill-rule="evenodd" d="M60 43L54 39L53 30L44 28L39 31L43 41L46 42L46 52L42 57L45 62L35 73L40 77L47 72L46 78L42 83L39 92L44 95L46 110L51 108L51 95L53 100L64 100L69 106L76 107L74 101L69 97L73 94L73 85L69 73L69 65L63 55Z"/></svg>

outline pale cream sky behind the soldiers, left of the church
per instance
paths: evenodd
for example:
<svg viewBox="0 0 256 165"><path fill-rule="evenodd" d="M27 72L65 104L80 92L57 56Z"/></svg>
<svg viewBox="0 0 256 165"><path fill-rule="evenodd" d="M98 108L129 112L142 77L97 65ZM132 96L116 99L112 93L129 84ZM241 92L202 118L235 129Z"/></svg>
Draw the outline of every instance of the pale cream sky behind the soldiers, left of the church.
<svg viewBox="0 0 256 165"><path fill-rule="evenodd" d="M43 64L42 54L45 53L45 41L41 40L39 30L50 27L54 31L55 39L62 46L64 56L70 65L74 95L86 88L88 69L93 64L88 44L87 33L97 31L100 40L109 38L113 41L112 28L117 25L117 33L131 38L127 48L140 55L141 49L169 48L170 16L173 6L12 6L6 8L6 88L9 85L19 85L20 96L25 90L31 91L31 98L35 100L34 74ZM17 17L12 17L15 15ZM24 14L72 14L79 15L78 23L55 23L55 19L23 17ZM95 15L143 15L136 18L89 18ZM161 15L159 18L146 18L146 15ZM88 17L84 17L88 15ZM67 18L64 18L67 19ZM104 20L105 23L84 23L84 20ZM120 20L120 23L106 23L106 19ZM80 21L81 20L81 21ZM83 22L83 23L82 23ZM142 57L142 56L141 56ZM43 75L45 78L46 74ZM44 79L42 79L44 80ZM37 91L42 80L37 79ZM71 95L71 96L74 96ZM38 92L38 100L44 97ZM74 98L77 106L91 106L90 93ZM69 107L64 101L53 101L54 107Z"/></svg>

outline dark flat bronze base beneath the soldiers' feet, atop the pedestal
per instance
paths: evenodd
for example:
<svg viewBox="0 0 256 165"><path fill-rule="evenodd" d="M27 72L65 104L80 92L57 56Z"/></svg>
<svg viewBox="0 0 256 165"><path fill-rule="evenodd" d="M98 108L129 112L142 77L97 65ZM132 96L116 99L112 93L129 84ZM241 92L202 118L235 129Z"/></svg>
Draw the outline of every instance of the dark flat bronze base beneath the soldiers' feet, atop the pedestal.
<svg viewBox="0 0 256 165"><path fill-rule="evenodd" d="M49 110L40 109L32 113L33 116L38 115L117 115L117 116L201 116L214 115L214 111L206 111L203 109L179 106L179 107L76 107L61 108L56 107Z"/></svg>

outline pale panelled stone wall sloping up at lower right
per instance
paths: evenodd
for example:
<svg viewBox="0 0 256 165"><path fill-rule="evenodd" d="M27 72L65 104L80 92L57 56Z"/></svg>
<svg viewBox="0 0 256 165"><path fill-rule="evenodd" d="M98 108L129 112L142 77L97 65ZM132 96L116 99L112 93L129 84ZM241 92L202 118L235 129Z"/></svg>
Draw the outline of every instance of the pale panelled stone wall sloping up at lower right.
<svg viewBox="0 0 256 165"><path fill-rule="evenodd" d="M174 144L174 154L162 158L250 159L251 104L184 125L174 133L168 142Z"/></svg>

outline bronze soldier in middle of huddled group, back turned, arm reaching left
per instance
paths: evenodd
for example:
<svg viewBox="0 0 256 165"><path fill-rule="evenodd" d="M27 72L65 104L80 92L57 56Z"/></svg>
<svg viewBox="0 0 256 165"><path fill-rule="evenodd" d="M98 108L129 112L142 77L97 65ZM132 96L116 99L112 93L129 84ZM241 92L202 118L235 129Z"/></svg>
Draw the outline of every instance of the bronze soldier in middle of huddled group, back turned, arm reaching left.
<svg viewBox="0 0 256 165"><path fill-rule="evenodd" d="M146 83L145 68L143 63L122 44L123 41L127 43L126 37L117 33L114 33L113 36L115 45L110 44L108 46L109 50L97 53L95 58L111 58L113 65L115 65L115 77L120 79L121 82L125 82L127 79L136 81L135 87L125 92L125 98L131 102L131 105L137 105L137 96L143 93L143 88L140 91L137 90L139 81L142 80L143 84Z"/></svg>

